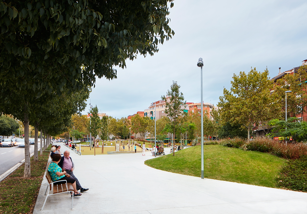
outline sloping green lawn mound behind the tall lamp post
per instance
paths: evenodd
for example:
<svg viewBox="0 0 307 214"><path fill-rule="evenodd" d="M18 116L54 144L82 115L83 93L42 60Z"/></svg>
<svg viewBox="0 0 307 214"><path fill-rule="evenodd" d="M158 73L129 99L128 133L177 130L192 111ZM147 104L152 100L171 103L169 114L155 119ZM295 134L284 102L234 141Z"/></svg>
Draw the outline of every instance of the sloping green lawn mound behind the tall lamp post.
<svg viewBox="0 0 307 214"><path fill-rule="evenodd" d="M204 177L243 184L276 187L276 176L287 160L256 151L204 145ZM201 176L201 146L183 149L145 164L168 172Z"/></svg>

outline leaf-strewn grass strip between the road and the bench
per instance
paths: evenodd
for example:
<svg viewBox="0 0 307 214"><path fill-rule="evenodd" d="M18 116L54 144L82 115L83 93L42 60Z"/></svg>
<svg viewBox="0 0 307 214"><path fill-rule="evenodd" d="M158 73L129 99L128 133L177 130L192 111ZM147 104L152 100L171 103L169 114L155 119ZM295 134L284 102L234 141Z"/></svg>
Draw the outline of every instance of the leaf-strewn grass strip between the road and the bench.
<svg viewBox="0 0 307 214"><path fill-rule="evenodd" d="M50 150L51 146L47 150ZM0 182L0 213L32 213L41 186L50 152L38 156L38 163L31 157L31 177L23 178L22 164ZM38 152L39 155L39 152Z"/></svg>

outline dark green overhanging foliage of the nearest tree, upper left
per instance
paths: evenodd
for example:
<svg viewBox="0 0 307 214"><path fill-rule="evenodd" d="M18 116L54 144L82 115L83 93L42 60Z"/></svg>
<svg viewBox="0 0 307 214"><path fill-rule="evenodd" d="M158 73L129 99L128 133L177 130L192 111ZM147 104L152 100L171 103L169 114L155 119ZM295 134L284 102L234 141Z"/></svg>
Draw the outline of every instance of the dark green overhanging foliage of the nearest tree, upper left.
<svg viewBox="0 0 307 214"><path fill-rule="evenodd" d="M0 85L13 81L39 97L116 78L114 66L153 55L174 34L168 2L0 0Z"/></svg>

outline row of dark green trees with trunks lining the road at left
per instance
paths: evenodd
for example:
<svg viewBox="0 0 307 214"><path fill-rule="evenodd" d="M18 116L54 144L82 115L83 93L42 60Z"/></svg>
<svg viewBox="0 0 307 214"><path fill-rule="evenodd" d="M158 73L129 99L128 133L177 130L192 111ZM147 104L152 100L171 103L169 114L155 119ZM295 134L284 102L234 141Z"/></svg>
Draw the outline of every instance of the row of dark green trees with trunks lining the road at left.
<svg viewBox="0 0 307 214"><path fill-rule="evenodd" d="M24 124L24 177L29 124L36 139L38 129L47 138L64 132L96 77L116 78L114 66L157 52L174 35L168 2L0 0L0 112Z"/></svg>

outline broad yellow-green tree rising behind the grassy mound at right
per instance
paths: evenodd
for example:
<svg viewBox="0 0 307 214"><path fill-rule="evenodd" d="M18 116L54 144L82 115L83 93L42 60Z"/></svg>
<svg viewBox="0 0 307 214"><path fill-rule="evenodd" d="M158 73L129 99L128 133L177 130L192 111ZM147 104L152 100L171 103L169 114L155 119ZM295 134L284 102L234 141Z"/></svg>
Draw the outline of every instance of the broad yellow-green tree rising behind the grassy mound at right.
<svg viewBox="0 0 307 214"><path fill-rule="evenodd" d="M261 73L256 68L249 73L234 74L230 91L224 89L220 97L218 106L223 124L242 124L247 128L248 140L252 125L269 121L279 110L278 103L270 96L272 82L268 74L267 69Z"/></svg>

